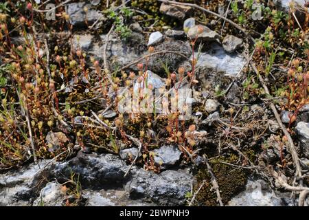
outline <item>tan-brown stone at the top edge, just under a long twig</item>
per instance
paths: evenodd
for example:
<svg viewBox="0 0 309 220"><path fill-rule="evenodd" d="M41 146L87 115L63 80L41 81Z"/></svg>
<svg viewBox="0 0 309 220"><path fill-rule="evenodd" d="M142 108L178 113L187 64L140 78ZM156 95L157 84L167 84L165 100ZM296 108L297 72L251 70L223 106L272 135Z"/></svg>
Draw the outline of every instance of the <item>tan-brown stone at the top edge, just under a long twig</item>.
<svg viewBox="0 0 309 220"><path fill-rule="evenodd" d="M183 20L187 14L192 12L192 8L185 5L169 5L166 3L161 3L160 12L170 17Z"/></svg>

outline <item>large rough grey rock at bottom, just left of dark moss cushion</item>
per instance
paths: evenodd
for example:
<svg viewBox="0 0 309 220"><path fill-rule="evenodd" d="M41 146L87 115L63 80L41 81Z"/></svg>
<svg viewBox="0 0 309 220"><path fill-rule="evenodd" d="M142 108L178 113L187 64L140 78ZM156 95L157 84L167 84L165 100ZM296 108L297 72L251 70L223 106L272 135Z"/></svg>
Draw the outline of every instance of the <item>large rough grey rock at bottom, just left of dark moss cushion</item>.
<svg viewBox="0 0 309 220"><path fill-rule="evenodd" d="M160 174L133 170L126 191L133 199L150 199L160 206L185 205L185 194L190 192L194 177L185 170L166 170Z"/></svg>

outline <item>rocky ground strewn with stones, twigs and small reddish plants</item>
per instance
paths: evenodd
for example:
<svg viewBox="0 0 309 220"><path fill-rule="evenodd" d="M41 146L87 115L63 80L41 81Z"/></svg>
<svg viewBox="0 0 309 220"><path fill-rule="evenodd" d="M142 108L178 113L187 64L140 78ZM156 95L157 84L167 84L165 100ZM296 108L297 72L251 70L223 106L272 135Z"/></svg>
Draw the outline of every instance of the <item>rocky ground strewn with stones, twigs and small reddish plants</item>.
<svg viewBox="0 0 309 220"><path fill-rule="evenodd" d="M303 1L256 23L251 1L5 2L0 206L308 205ZM140 79L192 89L192 118L119 112Z"/></svg>

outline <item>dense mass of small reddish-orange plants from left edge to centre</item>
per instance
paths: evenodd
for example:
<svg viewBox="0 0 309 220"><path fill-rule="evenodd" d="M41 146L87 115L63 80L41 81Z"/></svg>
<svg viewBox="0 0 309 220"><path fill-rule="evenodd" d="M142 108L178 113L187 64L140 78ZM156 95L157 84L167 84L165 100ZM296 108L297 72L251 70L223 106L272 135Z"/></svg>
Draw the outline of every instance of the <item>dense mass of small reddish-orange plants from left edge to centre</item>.
<svg viewBox="0 0 309 220"><path fill-rule="evenodd" d="M131 93L135 82L143 87L152 87L146 80L149 58L137 65L137 74L117 70L110 72L102 69L99 61L80 48L67 52L58 45L51 47L46 39L37 38L38 27L34 20L37 14L32 3L24 4L25 15L15 16L8 12L19 11L19 8L12 4L1 5L1 168L20 166L32 159L66 159L74 153L75 144L82 149L119 153L121 142L133 144L132 138L128 138L130 135L143 144L143 164L146 168L159 171L152 153L152 149L159 144L158 137L150 138L148 135L152 129L158 133L165 129L168 133L162 137L166 137L168 142L180 144L185 155L193 153L196 127L190 122L180 122L178 112L167 115L154 112L145 116L142 113L122 114L117 110L117 103L122 98L120 87L128 88ZM58 10L58 22L72 31L69 15L61 8ZM87 8L84 10L87 11ZM127 39L130 36L128 19L132 17L132 12L122 8L117 13L110 10L106 14L115 23L115 31L122 39ZM11 36L12 30L14 37ZM16 41L17 36L21 40ZM195 42L195 39L192 40L192 47ZM149 47L148 52L151 56L155 48ZM195 65L196 58L193 58L192 72L186 73L183 67L177 72L169 72L167 68L168 78L162 89L177 91L185 79L189 80L190 85L197 83ZM110 89L115 94L115 100L109 96ZM142 89L139 92L143 100ZM96 115L100 104L98 108L91 101L84 102L93 98L104 100L106 107L111 105L117 118L107 120L103 114ZM170 103L166 104L170 106ZM93 119L93 115L98 118ZM48 140L50 134L59 140L58 146Z"/></svg>

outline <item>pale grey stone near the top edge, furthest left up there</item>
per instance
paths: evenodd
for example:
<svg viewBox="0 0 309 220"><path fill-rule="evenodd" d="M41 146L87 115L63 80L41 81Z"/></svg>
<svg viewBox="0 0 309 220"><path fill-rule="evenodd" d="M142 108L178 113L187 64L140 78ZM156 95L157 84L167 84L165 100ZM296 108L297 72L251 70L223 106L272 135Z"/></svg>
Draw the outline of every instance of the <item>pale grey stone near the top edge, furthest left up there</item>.
<svg viewBox="0 0 309 220"><path fill-rule="evenodd" d="M87 13L84 12L84 7L88 8ZM84 2L69 3L66 7L66 12L69 14L70 23L74 26L84 26L86 25L86 21L90 25L102 17L100 12L91 9L91 4Z"/></svg>

